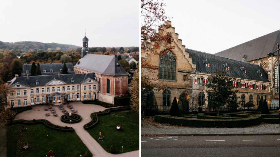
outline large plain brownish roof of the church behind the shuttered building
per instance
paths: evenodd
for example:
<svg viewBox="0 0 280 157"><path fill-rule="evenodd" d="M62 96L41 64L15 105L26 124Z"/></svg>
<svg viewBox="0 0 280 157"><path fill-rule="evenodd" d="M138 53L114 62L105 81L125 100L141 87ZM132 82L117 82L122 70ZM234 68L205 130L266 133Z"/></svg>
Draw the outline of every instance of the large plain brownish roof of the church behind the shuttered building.
<svg viewBox="0 0 280 157"><path fill-rule="evenodd" d="M242 61L243 55L246 55L244 61L252 61L268 57L267 54L269 52L277 50L277 42L280 42L280 30L218 52L216 55L229 57L239 61Z"/></svg>

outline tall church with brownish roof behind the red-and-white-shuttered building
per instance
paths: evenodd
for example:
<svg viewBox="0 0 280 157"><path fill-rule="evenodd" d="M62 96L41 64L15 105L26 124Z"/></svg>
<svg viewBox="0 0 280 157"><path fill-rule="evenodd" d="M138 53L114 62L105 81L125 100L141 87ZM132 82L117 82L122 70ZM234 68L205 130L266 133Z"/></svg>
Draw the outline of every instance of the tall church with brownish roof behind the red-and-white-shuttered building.
<svg viewBox="0 0 280 157"><path fill-rule="evenodd" d="M272 51L277 51L278 43L280 43L280 30L218 52L216 55L263 67L271 83L271 103L279 104L278 53L276 52L272 57L267 55Z"/></svg>

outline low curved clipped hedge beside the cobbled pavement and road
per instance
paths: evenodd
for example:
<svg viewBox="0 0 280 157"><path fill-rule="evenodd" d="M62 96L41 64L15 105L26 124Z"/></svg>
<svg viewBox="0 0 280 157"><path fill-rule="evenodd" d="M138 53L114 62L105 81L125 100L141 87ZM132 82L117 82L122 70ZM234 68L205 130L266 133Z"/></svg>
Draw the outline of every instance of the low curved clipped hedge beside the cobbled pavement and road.
<svg viewBox="0 0 280 157"><path fill-rule="evenodd" d="M203 114L203 113L202 113ZM217 114L217 113L215 113ZM234 114L230 114L233 116ZM242 114L235 114L236 116L242 116ZM197 115L198 118L198 115ZM230 118L230 117L220 117ZM191 119L184 117L173 117L169 115L158 115L155 116L155 122L168 123L172 125L180 126L194 126L194 127L246 127L252 125L259 125L262 123L262 117L260 115L249 115L247 118L238 119Z"/></svg>

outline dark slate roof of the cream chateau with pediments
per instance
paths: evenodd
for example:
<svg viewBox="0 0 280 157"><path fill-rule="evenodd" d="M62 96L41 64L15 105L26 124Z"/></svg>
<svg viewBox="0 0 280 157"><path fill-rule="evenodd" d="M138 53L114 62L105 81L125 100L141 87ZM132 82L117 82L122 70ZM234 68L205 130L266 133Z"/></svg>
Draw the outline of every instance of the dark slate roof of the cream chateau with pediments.
<svg viewBox="0 0 280 157"><path fill-rule="evenodd" d="M48 82L52 80L60 80L65 82L66 84L74 84L74 83L83 83L85 80L88 80L90 78L95 80L96 78L95 74L94 73L84 74L84 75L83 74L60 74L60 76L40 75L40 76L29 76L29 78L25 76L25 77L13 78L11 80L10 86L16 83L20 83L28 87L45 86ZM72 82L71 80L74 80L74 82ZM36 81L39 82L38 85L36 85ZM96 80L96 82L98 81Z"/></svg>

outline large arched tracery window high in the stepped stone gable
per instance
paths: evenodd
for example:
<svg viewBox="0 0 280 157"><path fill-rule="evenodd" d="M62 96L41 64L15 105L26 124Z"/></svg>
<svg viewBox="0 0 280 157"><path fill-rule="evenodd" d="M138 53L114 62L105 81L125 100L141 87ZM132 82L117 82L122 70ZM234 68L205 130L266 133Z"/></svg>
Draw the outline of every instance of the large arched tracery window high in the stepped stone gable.
<svg viewBox="0 0 280 157"><path fill-rule="evenodd" d="M167 53L166 53L167 52ZM159 58L159 78L164 80L176 80L176 59L170 50L165 50Z"/></svg>

